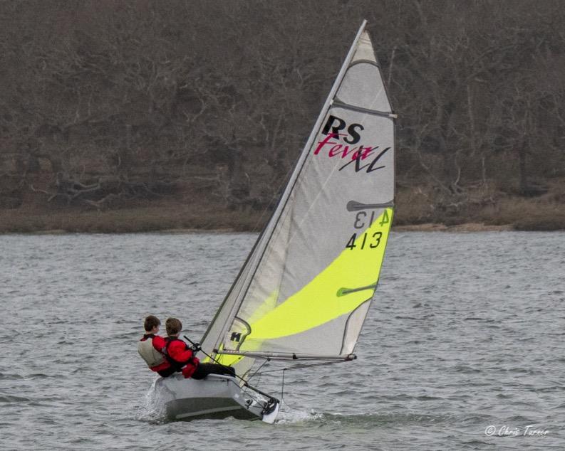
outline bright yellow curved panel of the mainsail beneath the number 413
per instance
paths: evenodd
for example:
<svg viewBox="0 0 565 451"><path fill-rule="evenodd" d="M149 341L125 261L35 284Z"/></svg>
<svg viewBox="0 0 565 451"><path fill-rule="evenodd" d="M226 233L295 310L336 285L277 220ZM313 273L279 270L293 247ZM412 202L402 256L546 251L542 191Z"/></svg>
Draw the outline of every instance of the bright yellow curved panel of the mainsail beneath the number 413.
<svg viewBox="0 0 565 451"><path fill-rule="evenodd" d="M252 351L266 339L299 334L353 312L373 296L388 240L393 209L364 232L353 235L342 253L299 292L261 318L240 349ZM259 341L259 343L258 343Z"/></svg>

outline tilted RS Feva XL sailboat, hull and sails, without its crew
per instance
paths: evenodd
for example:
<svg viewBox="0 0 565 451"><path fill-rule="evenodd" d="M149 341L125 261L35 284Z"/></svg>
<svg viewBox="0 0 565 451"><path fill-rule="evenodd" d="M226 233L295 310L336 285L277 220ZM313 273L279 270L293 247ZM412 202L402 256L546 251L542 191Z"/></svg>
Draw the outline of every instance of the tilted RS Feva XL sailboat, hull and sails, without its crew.
<svg viewBox="0 0 565 451"><path fill-rule="evenodd" d="M238 378L180 374L155 388L175 420L272 423L279 400L252 388L264 361L353 361L394 209L394 120L363 21L269 223L201 340Z"/></svg>

